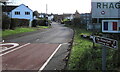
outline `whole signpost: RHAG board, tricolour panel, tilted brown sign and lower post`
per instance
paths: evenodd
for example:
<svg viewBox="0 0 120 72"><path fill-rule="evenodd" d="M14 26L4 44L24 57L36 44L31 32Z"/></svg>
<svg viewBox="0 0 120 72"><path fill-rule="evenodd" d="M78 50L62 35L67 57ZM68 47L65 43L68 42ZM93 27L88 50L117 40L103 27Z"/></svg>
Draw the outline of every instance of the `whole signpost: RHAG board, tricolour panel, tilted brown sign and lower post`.
<svg viewBox="0 0 120 72"><path fill-rule="evenodd" d="M120 0L92 0L92 18L102 19L103 33L120 33ZM111 20L111 19L113 20ZM110 20L106 20L110 19ZM106 70L107 47L118 49L117 40L104 37L94 37L94 42L103 45L102 70Z"/></svg>

